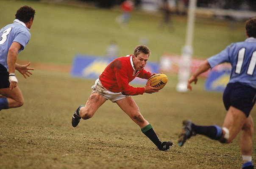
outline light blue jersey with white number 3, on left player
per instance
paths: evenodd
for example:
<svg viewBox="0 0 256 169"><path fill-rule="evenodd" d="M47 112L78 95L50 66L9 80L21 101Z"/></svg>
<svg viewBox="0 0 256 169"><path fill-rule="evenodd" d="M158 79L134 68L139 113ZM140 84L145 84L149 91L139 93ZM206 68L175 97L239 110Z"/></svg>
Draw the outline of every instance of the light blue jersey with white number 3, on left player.
<svg viewBox="0 0 256 169"><path fill-rule="evenodd" d="M22 45L19 52L22 51L30 40L31 34L25 23L14 20L13 24L6 25L0 29L0 64L8 69L7 55L8 50L13 42Z"/></svg>

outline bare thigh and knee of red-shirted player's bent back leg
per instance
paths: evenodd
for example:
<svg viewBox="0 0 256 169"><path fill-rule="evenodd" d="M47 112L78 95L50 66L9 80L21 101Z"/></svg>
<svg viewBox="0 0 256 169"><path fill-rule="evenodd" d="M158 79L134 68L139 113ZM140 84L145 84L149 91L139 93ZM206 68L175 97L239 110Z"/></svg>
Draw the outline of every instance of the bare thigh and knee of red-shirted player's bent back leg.
<svg viewBox="0 0 256 169"><path fill-rule="evenodd" d="M97 109L105 103L107 99L101 96L99 93L92 93L88 100L86 101L86 104L84 107L81 107L80 109L80 116L85 120L91 118Z"/></svg>

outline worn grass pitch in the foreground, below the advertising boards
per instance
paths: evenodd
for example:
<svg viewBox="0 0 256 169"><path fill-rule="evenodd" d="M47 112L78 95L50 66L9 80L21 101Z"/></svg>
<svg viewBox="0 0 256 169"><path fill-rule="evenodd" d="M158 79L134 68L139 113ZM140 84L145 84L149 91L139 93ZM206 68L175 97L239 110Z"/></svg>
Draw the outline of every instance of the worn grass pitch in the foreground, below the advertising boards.
<svg viewBox="0 0 256 169"><path fill-rule="evenodd" d="M18 75L25 104L0 112L1 169L240 168L239 136L228 145L195 136L178 147L183 119L222 125L225 109L221 93L203 90L203 79L192 92L178 93L176 76L168 76L159 93L134 96L159 138L175 143L170 151L161 152L111 101L72 128L72 112L85 104L93 80L50 71L34 71L28 79ZM253 153L255 163L255 149Z"/></svg>

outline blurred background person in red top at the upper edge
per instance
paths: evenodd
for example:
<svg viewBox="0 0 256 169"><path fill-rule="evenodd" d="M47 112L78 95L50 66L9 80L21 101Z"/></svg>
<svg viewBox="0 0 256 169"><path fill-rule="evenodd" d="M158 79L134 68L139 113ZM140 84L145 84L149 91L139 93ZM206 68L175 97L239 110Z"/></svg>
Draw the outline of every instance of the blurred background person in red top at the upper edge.
<svg viewBox="0 0 256 169"><path fill-rule="evenodd" d="M118 16L116 21L121 25L121 27L126 28L131 18L131 11L134 9L134 2L133 0L125 0L120 7L122 15Z"/></svg>

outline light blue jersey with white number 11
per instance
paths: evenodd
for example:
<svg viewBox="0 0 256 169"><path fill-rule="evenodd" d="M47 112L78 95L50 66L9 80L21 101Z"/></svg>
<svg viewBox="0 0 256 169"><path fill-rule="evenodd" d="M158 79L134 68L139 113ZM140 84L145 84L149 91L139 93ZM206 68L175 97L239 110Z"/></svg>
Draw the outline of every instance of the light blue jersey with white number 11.
<svg viewBox="0 0 256 169"><path fill-rule="evenodd" d="M243 42L232 43L207 60L211 68L220 63L231 63L228 83L240 82L256 89L256 38L250 37Z"/></svg>

